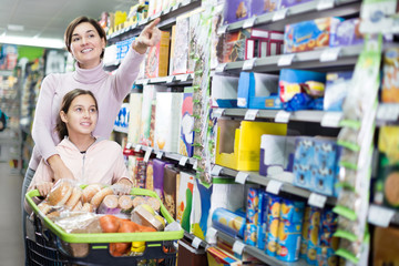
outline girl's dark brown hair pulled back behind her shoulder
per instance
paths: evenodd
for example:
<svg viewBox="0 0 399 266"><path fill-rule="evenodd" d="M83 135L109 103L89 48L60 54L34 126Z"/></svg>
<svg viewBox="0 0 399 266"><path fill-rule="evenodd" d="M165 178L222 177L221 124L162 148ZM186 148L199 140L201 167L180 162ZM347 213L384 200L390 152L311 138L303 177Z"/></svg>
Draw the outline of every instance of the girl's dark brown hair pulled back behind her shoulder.
<svg viewBox="0 0 399 266"><path fill-rule="evenodd" d="M72 104L72 101L76 96L80 96L80 95L91 95L94 100L95 108L99 110L99 104L95 100L94 94L91 91L86 91L86 90L82 90L82 89L74 89L74 90L68 92L63 96L60 112L63 111L66 114ZM69 134L68 134L66 124L61 120L60 112L59 112L59 116L57 117L55 132L58 133L60 140L62 141Z"/></svg>

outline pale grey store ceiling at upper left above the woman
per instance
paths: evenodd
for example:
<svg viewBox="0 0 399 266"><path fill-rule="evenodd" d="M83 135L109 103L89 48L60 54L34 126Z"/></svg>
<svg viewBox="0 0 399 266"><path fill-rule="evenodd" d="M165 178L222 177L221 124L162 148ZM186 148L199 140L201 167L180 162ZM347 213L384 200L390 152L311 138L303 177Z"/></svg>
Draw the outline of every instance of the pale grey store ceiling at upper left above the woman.
<svg viewBox="0 0 399 266"><path fill-rule="evenodd" d="M0 37L2 40L63 40L66 25L75 17L98 19L103 11L129 11L136 2L137 0L0 0Z"/></svg>

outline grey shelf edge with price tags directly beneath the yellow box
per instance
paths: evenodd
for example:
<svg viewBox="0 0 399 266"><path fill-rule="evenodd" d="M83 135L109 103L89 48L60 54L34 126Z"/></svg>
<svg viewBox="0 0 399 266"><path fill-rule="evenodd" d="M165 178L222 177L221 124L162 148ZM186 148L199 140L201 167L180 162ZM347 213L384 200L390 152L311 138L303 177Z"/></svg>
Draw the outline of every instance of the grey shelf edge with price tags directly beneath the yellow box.
<svg viewBox="0 0 399 266"><path fill-rule="evenodd" d="M310 198L310 195L315 194L306 188L301 188L301 187L293 185L291 182L294 180L294 175L293 175L293 173L289 173L289 172L283 172L282 174L276 174L274 176L263 176L263 175L259 175L258 172L238 172L236 170L226 168L226 167L222 167L222 170L221 170L221 175L227 175L231 177L235 177L236 182L238 178L238 174L246 176L245 182L266 186L266 191L267 191L267 186L269 185L270 181L274 183L274 185L276 184L275 182L283 183L280 185L280 187L278 188L277 194L278 194L278 192L282 191L287 194L293 194L293 195L300 196L304 198ZM335 205L337 202L337 200L331 196L323 196L323 195L319 195L319 196L325 197L326 204L329 204L329 205Z"/></svg>

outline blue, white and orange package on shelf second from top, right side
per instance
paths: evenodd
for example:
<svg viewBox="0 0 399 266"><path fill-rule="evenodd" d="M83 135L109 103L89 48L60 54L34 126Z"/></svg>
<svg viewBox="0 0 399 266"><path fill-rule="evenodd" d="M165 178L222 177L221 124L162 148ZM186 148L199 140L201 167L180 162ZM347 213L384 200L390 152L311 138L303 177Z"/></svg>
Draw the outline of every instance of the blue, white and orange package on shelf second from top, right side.
<svg viewBox="0 0 399 266"><path fill-rule="evenodd" d="M304 52L329 47L330 29L341 20L321 18L285 27L284 53Z"/></svg>

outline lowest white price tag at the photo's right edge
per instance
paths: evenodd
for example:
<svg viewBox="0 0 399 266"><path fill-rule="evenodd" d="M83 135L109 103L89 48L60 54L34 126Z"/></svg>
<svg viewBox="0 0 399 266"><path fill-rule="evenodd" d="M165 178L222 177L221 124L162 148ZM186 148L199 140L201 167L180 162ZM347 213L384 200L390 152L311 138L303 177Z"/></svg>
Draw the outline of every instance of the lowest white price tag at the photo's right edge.
<svg viewBox="0 0 399 266"><path fill-rule="evenodd" d="M368 222L381 227L388 227L390 224L398 226L399 212L397 209L383 207L377 204L370 204Z"/></svg>

